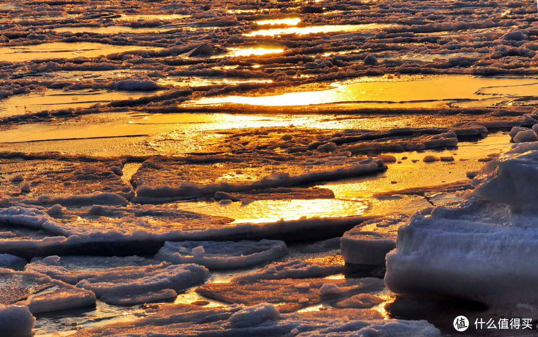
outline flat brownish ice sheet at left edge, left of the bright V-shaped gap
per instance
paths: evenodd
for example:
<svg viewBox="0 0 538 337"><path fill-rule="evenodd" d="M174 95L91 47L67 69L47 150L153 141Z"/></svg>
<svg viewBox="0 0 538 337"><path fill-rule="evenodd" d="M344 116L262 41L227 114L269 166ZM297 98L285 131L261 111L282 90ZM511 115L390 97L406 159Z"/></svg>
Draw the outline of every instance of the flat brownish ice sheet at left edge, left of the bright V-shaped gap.
<svg viewBox="0 0 538 337"><path fill-rule="evenodd" d="M0 191L4 195L25 195L45 203L69 203L66 198L70 196L98 192L128 199L134 196L132 187L121 179L123 160L61 156L52 159L54 155L29 157L23 159L6 154L0 159ZM54 200L55 197L64 199Z"/></svg>

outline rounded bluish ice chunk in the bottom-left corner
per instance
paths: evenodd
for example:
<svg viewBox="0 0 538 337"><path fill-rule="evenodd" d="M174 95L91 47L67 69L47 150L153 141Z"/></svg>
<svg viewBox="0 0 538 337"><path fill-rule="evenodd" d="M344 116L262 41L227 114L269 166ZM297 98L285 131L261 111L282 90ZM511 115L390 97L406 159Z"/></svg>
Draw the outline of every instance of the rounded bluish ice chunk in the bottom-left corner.
<svg viewBox="0 0 538 337"><path fill-rule="evenodd" d="M0 304L0 327L4 337L32 336L36 319L27 306Z"/></svg>

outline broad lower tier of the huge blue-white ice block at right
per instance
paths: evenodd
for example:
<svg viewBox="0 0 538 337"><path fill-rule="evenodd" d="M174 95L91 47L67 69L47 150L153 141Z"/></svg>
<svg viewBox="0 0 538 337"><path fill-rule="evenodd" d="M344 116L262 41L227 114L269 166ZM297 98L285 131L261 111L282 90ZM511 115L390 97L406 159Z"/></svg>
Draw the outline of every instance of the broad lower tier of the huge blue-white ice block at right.
<svg viewBox="0 0 538 337"><path fill-rule="evenodd" d="M400 228L397 249L387 254L387 288L408 297L535 305L535 219L535 213L514 213L476 197L416 214Z"/></svg>

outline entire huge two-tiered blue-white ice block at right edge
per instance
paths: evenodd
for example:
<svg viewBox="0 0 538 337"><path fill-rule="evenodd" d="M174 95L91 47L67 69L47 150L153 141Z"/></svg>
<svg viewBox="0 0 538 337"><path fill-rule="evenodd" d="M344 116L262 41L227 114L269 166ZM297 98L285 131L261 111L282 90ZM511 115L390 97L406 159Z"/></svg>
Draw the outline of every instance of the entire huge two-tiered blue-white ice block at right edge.
<svg viewBox="0 0 538 337"><path fill-rule="evenodd" d="M464 202L418 213L400 228L397 249L386 257L387 288L536 305L536 148L515 146L486 165Z"/></svg>

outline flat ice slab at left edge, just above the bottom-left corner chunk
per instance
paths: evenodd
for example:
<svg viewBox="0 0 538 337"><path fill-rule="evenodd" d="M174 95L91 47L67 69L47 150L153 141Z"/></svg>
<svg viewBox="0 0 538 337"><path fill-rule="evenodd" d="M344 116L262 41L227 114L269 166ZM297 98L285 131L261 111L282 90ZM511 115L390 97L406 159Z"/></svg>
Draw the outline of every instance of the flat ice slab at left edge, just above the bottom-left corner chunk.
<svg viewBox="0 0 538 337"><path fill-rule="evenodd" d="M0 270L0 304L26 305L32 313L95 305L91 291L31 272Z"/></svg>

